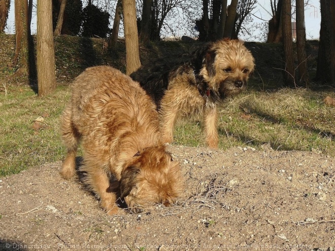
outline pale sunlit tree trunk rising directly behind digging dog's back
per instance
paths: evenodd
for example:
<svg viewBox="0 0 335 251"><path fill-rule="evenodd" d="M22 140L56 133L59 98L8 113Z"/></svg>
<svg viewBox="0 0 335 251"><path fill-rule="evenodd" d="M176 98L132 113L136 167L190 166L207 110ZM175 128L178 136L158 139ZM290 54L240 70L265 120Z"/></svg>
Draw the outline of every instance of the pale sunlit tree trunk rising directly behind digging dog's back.
<svg viewBox="0 0 335 251"><path fill-rule="evenodd" d="M126 43L126 73L129 76L141 66L134 0L123 0L124 37Z"/></svg>

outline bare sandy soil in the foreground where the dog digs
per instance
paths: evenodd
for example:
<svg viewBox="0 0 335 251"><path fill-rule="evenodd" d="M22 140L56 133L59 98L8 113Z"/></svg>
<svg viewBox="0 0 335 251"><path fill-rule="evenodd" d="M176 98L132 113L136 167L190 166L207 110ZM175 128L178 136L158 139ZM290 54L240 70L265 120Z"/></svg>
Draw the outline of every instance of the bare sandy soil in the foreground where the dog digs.
<svg viewBox="0 0 335 251"><path fill-rule="evenodd" d="M185 193L107 216L60 162L0 178L0 250L335 249L335 161L312 152L170 146Z"/></svg>

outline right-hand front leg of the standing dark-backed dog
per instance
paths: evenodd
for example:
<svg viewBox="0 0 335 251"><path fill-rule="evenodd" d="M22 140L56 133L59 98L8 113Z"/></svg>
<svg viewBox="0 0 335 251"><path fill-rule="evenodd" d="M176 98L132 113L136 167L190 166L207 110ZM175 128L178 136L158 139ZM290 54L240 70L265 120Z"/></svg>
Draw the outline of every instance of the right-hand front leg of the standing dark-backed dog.
<svg viewBox="0 0 335 251"><path fill-rule="evenodd" d="M206 142L210 148L218 148L218 111L216 106L206 107L204 114L204 130L206 133Z"/></svg>

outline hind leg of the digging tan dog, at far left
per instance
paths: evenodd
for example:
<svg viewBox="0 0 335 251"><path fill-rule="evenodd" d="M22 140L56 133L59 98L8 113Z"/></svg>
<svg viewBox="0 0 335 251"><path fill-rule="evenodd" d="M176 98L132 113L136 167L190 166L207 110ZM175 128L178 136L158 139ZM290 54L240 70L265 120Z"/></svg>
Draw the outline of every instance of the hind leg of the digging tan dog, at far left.
<svg viewBox="0 0 335 251"><path fill-rule="evenodd" d="M76 173L76 156L80 134L72 122L71 105L68 105L61 117L61 138L66 148L66 156L60 174L69 180Z"/></svg>

